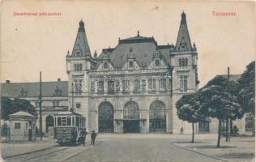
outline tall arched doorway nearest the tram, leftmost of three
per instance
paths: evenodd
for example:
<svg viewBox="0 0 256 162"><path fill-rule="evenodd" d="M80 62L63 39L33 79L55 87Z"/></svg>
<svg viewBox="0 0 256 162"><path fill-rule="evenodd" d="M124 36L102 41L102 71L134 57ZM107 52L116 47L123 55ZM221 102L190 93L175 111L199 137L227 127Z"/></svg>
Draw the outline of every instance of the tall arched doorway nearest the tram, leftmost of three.
<svg viewBox="0 0 256 162"><path fill-rule="evenodd" d="M109 102L103 102L99 107L99 132L113 132L113 105Z"/></svg>

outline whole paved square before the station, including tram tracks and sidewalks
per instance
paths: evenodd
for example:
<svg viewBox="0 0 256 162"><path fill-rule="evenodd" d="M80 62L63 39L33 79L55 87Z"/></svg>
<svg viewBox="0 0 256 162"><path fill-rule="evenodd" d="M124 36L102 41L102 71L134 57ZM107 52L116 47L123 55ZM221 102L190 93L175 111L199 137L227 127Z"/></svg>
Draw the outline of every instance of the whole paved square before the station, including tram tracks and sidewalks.
<svg viewBox="0 0 256 162"><path fill-rule="evenodd" d="M233 138L230 143L222 139L215 148L216 137L196 134L190 143L190 134L98 134L95 146L87 141L85 147L58 147L45 139L1 143L1 151L6 161L254 161L254 138Z"/></svg>

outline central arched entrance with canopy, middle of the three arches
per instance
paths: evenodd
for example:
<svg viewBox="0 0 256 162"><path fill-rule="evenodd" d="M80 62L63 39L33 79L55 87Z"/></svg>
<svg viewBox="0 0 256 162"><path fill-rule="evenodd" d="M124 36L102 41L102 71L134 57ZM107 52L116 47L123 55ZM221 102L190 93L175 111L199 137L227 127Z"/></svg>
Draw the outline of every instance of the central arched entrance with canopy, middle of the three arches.
<svg viewBox="0 0 256 162"><path fill-rule="evenodd" d="M124 133L139 132L139 104L129 101L123 109L123 131Z"/></svg>

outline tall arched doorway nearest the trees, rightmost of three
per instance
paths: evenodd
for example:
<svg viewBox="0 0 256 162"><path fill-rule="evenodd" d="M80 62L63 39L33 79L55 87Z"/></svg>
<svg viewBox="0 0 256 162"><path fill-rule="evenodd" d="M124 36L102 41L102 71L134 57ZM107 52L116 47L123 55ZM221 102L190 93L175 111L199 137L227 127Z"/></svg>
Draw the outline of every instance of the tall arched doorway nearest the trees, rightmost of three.
<svg viewBox="0 0 256 162"><path fill-rule="evenodd" d="M166 132L166 109L164 102L155 100L149 108L149 131Z"/></svg>

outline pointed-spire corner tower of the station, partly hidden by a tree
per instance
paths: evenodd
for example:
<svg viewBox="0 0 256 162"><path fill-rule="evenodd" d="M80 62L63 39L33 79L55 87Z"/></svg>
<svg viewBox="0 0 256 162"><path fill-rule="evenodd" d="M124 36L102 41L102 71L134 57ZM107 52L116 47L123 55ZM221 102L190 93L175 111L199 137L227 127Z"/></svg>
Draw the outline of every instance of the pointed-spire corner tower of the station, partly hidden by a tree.
<svg viewBox="0 0 256 162"><path fill-rule="evenodd" d="M177 117L176 102L186 93L198 89L198 53L195 44L192 46L186 23L186 14L181 14L181 24L176 45L170 49L170 66L173 69L173 134L178 134L183 127L185 133L191 131L187 122Z"/></svg>

